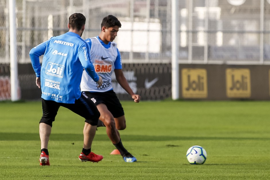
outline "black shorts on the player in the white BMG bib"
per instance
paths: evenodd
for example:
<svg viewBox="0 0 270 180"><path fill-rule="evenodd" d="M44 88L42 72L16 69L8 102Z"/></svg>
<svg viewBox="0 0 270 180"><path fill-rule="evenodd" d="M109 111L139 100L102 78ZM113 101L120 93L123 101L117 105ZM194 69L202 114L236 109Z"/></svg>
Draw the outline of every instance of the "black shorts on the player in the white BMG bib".
<svg viewBox="0 0 270 180"><path fill-rule="evenodd" d="M105 104L108 110L112 113L114 118L118 118L120 116L125 115L122 104L117 98L115 92L113 90L106 92L88 92L83 91L83 94L88 96L96 105Z"/></svg>

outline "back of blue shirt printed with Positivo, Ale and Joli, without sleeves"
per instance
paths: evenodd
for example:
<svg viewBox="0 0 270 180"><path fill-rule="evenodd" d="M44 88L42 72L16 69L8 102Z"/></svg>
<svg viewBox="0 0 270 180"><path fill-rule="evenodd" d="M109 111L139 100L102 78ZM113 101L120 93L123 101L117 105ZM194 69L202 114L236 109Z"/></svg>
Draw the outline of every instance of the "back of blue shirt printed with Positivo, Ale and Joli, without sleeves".
<svg viewBox="0 0 270 180"><path fill-rule="evenodd" d="M72 32L47 41L40 76L42 98L63 103L74 103L79 98L83 67L78 53L80 48L87 46L79 35Z"/></svg>

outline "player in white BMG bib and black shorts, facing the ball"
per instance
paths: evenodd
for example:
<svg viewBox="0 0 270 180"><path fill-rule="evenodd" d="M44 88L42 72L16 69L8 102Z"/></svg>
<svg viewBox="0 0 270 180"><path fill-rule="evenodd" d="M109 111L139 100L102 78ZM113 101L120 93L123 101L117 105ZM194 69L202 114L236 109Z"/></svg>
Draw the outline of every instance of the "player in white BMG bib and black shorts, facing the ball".
<svg viewBox="0 0 270 180"><path fill-rule="evenodd" d="M106 126L106 132L112 144L119 150L125 162L136 162L137 159L127 151L121 141L118 130L126 128L126 119L123 107L112 88L112 73L117 82L130 94L134 102L140 101L140 96L130 88L122 71L121 55L112 42L121 27L120 21L113 15L104 17L101 23L101 32L96 37L86 39L90 46L91 61L96 73L102 77L103 84L98 84L83 71L81 91L88 96L100 112L101 126ZM98 125L99 126L99 125Z"/></svg>

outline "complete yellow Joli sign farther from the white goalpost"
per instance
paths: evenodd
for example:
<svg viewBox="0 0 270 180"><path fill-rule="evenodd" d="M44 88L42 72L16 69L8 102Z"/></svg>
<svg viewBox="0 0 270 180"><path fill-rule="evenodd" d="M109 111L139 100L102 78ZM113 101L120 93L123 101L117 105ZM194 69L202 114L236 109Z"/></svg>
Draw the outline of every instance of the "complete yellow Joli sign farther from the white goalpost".
<svg viewBox="0 0 270 180"><path fill-rule="evenodd" d="M226 94L228 98L249 98L251 96L249 69L226 69Z"/></svg>

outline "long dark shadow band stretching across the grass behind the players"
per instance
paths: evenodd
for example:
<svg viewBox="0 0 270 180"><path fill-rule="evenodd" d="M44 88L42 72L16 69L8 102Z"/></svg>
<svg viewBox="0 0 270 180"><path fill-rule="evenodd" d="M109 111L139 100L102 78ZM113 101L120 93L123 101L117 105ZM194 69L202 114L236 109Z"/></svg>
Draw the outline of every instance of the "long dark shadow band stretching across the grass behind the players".
<svg viewBox="0 0 270 180"><path fill-rule="evenodd" d="M83 134L56 134L50 135L50 140L55 141L81 141ZM126 141L178 141L178 140L270 140L260 137L181 137L160 135L122 135ZM0 132L0 141L39 141L38 133ZM106 134L96 134L95 141L108 141ZM169 145L168 145L169 146Z"/></svg>

